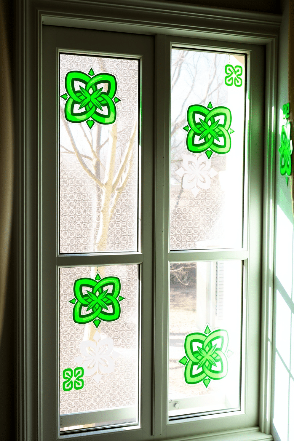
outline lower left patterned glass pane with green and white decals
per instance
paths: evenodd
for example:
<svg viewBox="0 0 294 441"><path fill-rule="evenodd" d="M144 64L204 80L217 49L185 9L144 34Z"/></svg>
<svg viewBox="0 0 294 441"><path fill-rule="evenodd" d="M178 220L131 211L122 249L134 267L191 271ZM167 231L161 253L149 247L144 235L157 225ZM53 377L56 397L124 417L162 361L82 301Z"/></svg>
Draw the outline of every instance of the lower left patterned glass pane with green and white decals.
<svg viewBox="0 0 294 441"><path fill-rule="evenodd" d="M138 265L60 269L60 430L138 423Z"/></svg>

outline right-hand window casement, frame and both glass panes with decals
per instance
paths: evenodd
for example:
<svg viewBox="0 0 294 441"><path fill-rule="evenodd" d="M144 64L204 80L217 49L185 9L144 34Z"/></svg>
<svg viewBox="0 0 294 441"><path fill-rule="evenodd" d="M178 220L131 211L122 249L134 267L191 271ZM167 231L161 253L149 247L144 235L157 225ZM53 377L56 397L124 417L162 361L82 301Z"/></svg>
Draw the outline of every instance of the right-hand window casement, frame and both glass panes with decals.
<svg viewBox="0 0 294 441"><path fill-rule="evenodd" d="M158 363L169 360L169 370L163 369L160 378L164 384L160 392L164 398L168 396L168 406L162 404L166 412L162 421L163 424L168 421L169 437L216 431L218 424L242 427L249 413L249 418L257 423L258 376L254 379L252 375L252 383L248 382L246 366L255 365L254 370L259 369L259 337L253 333L255 326L260 326L261 205L260 208L258 205L262 203L262 180L256 169L258 160L253 157L262 136L259 141L252 138L254 129L249 128L249 123L251 115L258 115L257 109L262 108L261 96L258 98L257 90L253 90L257 84L261 90L262 76L255 71L254 60L256 57L262 60L263 55L262 51L259 55L255 52L261 48L243 46L241 49L235 45L233 49L232 44L229 47L220 47L219 42L205 44L175 37L165 40L165 50L169 53L166 71L171 78L171 86L168 85L171 94L166 91L171 100L171 125L167 125L165 136L171 134L171 141L165 145L164 179L160 180L160 172L156 176L157 188L161 189L164 183L164 195L161 198L157 192L156 206L159 210L163 201L163 246L157 247L156 258L160 262L163 255L164 280L156 302L162 307L163 315L163 324L159 323L160 319L157 322L157 329L163 334L161 345L157 344L164 354L162 359L158 355ZM232 64L235 71L239 69L238 74L242 71L242 86L238 79L237 86L228 85L231 74L228 65ZM210 85L213 85L211 90ZM210 95L207 90L211 91ZM208 121L208 113L221 105L234 108L231 115L234 114L238 128L227 127L238 133L238 153L237 149L234 153L238 157L234 156L234 160L233 154L228 159L229 153L217 154L210 149L212 144L205 146L201 142L205 130L212 130L211 125L215 124L215 120L211 120L206 127L201 124L201 118ZM168 100L166 106L169 107ZM220 116L217 120L220 121L217 125L225 121ZM230 131L231 139L234 133ZM224 144L223 140L216 140L216 150L224 149ZM232 149L233 141L230 153ZM223 185L222 176L228 179L234 176L234 184L228 183L227 187L230 196L223 191L224 187L217 190L217 185ZM211 207L219 207L219 211ZM214 217L214 213L219 214ZM226 213L230 218L229 232L223 218ZM234 225L231 225L232 219ZM160 280L157 283L160 284ZM163 304L160 295L163 295ZM229 330L230 325L234 330ZM234 349L227 345L226 331L233 336ZM217 342L217 332L222 333L222 341ZM209 339L212 344L208 348ZM256 344L249 348L249 341ZM169 342L169 350L166 342ZM215 368L213 363L205 362L206 367L211 368L210 373L196 368L197 361L199 364L205 359L209 350L213 352L220 347L226 348L227 360L218 359ZM232 377L229 373L224 375L226 366L230 366L227 372L231 369ZM159 370L160 366L156 368ZM218 375L222 377L220 381L216 380ZM160 400L159 393L156 398Z"/></svg>

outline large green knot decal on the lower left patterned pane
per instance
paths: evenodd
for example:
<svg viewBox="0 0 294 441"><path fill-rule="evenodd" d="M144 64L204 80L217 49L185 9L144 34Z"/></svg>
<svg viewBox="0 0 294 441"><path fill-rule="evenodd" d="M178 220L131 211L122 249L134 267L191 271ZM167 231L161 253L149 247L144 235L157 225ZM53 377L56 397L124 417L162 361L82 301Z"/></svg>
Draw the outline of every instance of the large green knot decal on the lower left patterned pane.
<svg viewBox="0 0 294 441"><path fill-rule="evenodd" d="M104 289L106 287L107 289ZM85 288L90 288L90 290ZM112 288L111 292L108 292L109 288ZM101 279L99 273L95 279L82 277L74 281L73 291L74 299L69 302L74 304L72 311L74 323L85 325L93 321L97 328L101 320L115 321L119 319L121 314L119 302L124 299L119 295L121 292L119 277L103 277ZM87 311L90 312L87 313Z"/></svg>

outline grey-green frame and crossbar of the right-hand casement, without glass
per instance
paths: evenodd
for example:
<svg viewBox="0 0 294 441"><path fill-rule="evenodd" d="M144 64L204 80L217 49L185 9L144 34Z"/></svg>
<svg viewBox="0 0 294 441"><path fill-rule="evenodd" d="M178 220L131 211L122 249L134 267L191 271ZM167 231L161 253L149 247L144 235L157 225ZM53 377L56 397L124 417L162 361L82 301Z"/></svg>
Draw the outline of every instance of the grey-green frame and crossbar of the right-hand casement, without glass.
<svg viewBox="0 0 294 441"><path fill-rule="evenodd" d="M189 434L209 433L217 430L218 424L227 428L236 426L246 427L247 416L258 423L258 384L259 384L259 344L255 348L249 347L248 342L254 339L259 341L259 333L253 331L253 323L257 329L260 326L261 305L261 224L262 224L262 176L258 176L258 151L263 146L263 134L257 127L262 127L262 117L254 124L246 123L245 154L247 155L247 169L245 170L245 195L248 192L248 206L244 207L244 218L249 213L248 224L244 222L243 248L240 250L183 250L169 251L169 175L170 175L170 112L166 112L164 119L160 118L164 110L170 109L170 84L164 84L162 74L165 78L171 78L171 47L186 47L215 50L219 48L224 51L240 52L247 54L247 90L250 90L250 101L246 109L246 120L252 116L262 115L263 101L260 94L263 84L263 76L258 71L258 60L263 59L261 47L252 45L226 44L220 41L201 41L185 37L170 37L158 35L156 37L157 59L156 59L156 115L157 127L160 124L162 133L156 132L157 139L157 164L162 164L164 157L164 173L157 165L156 169L156 226L160 229L163 224L161 240L156 240L156 269L155 274L155 334L162 335L162 340L155 341L155 371L161 376L155 377L155 403L161 403L161 412L154 413L155 434L159 435L163 427L166 427L167 437L179 437ZM254 81L253 81L254 78ZM261 89L260 89L261 88ZM256 113L257 112L257 113ZM258 116L257 116L258 119ZM248 150L246 146L249 146ZM246 163L246 161L245 161ZM161 188L164 192L161 194ZM250 232L250 235L248 234ZM171 262L203 262L227 260L240 257L244 262L243 273L243 351L242 351L242 385L241 385L241 411L225 412L222 415L194 416L190 419L183 418L168 421L168 292L169 292L169 264ZM162 276L163 275L163 276ZM162 279L161 279L162 277ZM249 371L248 365L254 366ZM252 371L255 371L253 374ZM250 381L249 381L250 378ZM249 398L250 397L250 398ZM249 405L250 403L250 405ZM159 405L158 405L159 407ZM221 418L221 420L220 420Z"/></svg>

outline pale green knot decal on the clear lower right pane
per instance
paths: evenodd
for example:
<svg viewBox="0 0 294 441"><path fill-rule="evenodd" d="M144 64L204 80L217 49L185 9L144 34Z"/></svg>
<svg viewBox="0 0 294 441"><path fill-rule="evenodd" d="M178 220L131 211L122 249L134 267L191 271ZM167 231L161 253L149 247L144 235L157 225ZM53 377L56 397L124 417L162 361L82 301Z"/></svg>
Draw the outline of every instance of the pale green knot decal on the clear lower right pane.
<svg viewBox="0 0 294 441"><path fill-rule="evenodd" d="M184 340L185 356L179 360L185 366L184 381L193 385L203 381L205 387L211 380L221 380L227 375L228 333L225 329L211 331L207 325L204 333L187 334ZM227 353L227 355L226 355ZM197 366L194 370L194 366Z"/></svg>

